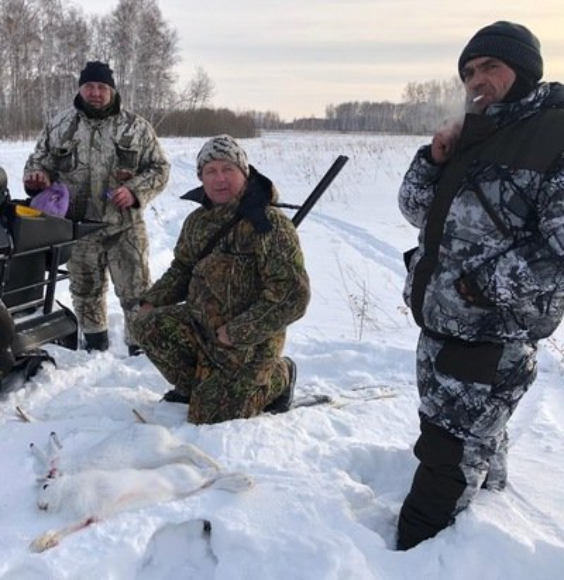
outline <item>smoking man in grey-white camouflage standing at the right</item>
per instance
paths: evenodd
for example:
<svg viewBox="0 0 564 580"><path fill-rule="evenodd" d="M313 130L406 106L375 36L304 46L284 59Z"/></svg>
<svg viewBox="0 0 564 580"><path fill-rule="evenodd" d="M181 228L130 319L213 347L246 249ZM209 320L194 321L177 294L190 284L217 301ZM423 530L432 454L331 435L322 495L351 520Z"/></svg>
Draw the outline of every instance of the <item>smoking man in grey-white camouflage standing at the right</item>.
<svg viewBox="0 0 564 580"><path fill-rule="evenodd" d="M421 434L398 549L507 480L507 422L536 376L537 341L564 309L564 87L540 83L538 39L506 21L458 63L468 113L417 152L399 203L420 230L406 303Z"/></svg>

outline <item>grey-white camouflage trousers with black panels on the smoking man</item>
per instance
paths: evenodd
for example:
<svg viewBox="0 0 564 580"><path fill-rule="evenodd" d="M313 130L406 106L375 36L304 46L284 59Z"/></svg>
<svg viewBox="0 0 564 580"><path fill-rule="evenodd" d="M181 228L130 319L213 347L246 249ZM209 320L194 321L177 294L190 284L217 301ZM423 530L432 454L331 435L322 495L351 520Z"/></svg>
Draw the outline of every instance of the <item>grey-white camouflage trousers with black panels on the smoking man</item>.
<svg viewBox="0 0 564 580"><path fill-rule="evenodd" d="M398 549L452 523L481 487L507 480L507 422L536 377L536 344L466 343L425 333L417 346L421 434L398 521Z"/></svg>

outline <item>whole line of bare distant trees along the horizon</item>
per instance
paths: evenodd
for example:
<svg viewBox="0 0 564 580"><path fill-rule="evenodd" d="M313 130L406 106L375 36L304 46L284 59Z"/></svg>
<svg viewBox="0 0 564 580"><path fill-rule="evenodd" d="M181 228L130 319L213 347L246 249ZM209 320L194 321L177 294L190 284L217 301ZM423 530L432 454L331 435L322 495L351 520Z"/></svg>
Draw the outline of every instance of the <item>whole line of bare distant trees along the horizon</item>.
<svg viewBox="0 0 564 580"><path fill-rule="evenodd" d="M61 0L0 0L0 139L35 137L68 108L87 60L109 62L124 106L147 118L161 136L260 131L429 133L462 110L459 79L410 83L402 103L329 104L325 118L283 122L272 111L214 108L213 80L201 67L177 86L178 34L156 0L119 0L104 16L85 16Z"/></svg>

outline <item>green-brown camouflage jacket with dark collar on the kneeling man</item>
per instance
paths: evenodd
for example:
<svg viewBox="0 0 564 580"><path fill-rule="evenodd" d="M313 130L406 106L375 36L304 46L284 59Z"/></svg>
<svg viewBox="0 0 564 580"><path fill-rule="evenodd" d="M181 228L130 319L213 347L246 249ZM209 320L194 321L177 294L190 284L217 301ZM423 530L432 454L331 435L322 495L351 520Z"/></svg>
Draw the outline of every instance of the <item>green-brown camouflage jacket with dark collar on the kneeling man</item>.
<svg viewBox="0 0 564 580"><path fill-rule="evenodd" d="M142 300L185 301L204 338L215 340L215 329L227 324L236 348L283 342L287 325L305 313L310 288L294 224L269 205L276 197L270 180L252 168L240 200L213 206L203 197L182 226L169 269ZM236 213L244 217L200 259Z"/></svg>

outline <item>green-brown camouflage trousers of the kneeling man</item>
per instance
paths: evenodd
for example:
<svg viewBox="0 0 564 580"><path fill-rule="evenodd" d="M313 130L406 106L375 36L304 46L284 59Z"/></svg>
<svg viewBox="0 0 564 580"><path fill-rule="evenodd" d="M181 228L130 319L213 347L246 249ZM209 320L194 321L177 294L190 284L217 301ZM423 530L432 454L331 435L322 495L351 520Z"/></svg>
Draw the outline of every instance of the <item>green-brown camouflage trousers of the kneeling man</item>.
<svg viewBox="0 0 564 580"><path fill-rule="evenodd" d="M138 316L134 336L164 378L189 397L188 420L196 425L258 415L290 380L279 356L262 360L252 347L206 339L185 305Z"/></svg>

